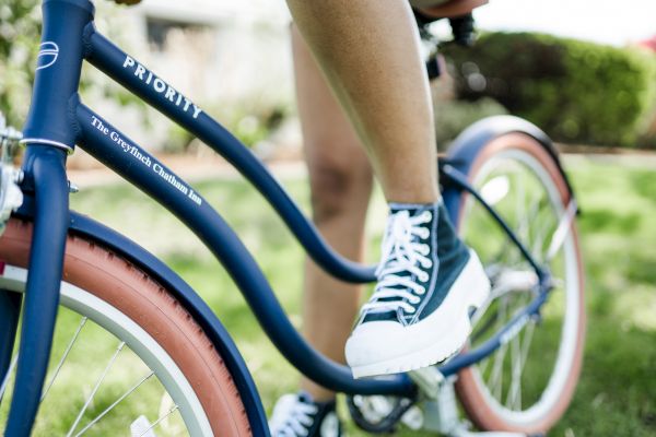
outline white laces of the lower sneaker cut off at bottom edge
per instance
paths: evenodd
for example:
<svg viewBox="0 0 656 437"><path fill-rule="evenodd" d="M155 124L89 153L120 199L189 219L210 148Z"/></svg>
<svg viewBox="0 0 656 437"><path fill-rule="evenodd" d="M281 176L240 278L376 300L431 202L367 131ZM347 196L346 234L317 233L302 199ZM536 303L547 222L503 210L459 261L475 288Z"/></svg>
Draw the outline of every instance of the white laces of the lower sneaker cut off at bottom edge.
<svg viewBox="0 0 656 437"><path fill-rule="evenodd" d="M280 398L269 428L273 437L305 437L314 423L313 415L319 409L311 403L302 402L296 394Z"/></svg>

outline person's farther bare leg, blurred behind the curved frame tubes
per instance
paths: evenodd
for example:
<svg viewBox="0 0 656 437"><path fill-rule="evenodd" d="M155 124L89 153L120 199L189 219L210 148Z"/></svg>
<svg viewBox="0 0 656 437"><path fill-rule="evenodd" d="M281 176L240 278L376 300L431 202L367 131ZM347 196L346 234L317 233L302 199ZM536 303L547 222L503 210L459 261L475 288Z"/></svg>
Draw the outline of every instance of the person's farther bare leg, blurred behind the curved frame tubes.
<svg viewBox="0 0 656 437"><path fill-rule="evenodd" d="M296 99L308 167L313 218L341 255L361 261L372 191L368 160L304 40L292 31ZM312 260L305 264L303 332L328 357L344 363L361 287L333 279ZM333 393L304 379L317 401Z"/></svg>

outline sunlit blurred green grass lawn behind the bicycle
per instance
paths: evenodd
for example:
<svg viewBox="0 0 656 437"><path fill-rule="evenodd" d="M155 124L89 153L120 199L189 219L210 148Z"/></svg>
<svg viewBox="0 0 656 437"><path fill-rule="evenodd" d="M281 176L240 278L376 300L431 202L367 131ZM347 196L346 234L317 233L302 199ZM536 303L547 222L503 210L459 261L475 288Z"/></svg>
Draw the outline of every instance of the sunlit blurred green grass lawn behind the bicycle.
<svg viewBox="0 0 656 437"><path fill-rule="evenodd" d="M567 165L584 211L579 228L588 335L576 395L551 435L654 436L656 172L582 157L567 160ZM307 211L306 182L284 185ZM236 228L300 326L303 252L284 225L241 179L195 186ZM268 411L280 394L296 390L297 374L268 342L227 274L174 217L124 185L82 190L72 197L72 205L163 258L206 298L236 340ZM373 241L380 232L374 217L383 214L377 196L370 213ZM349 430L351 436L364 435L352 426Z"/></svg>

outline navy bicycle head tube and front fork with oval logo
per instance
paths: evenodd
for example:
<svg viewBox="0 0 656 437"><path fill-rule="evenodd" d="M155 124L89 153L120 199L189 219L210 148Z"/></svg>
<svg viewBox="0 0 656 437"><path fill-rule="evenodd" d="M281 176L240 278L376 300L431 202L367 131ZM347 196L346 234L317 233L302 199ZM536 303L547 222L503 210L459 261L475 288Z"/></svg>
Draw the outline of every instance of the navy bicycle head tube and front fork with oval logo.
<svg viewBox="0 0 656 437"><path fill-rule="evenodd" d="M27 145L22 188L34 196L34 227L5 428L11 437L30 435L48 368L69 225L66 157L78 134L72 108L79 103L83 35L94 9L89 0L51 0L43 3L43 12L32 104L21 141Z"/></svg>

